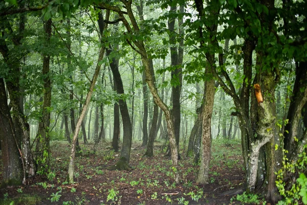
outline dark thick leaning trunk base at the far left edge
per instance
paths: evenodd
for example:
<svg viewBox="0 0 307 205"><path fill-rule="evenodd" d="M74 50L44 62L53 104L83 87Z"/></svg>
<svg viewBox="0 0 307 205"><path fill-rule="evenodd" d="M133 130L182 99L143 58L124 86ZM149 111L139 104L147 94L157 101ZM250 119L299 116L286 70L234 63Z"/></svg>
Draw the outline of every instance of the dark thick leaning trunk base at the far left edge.
<svg viewBox="0 0 307 205"><path fill-rule="evenodd" d="M13 120L7 104L7 95L3 78L0 78L0 125L3 161L3 179L1 187L21 185L21 150L17 147L17 139L14 133Z"/></svg>

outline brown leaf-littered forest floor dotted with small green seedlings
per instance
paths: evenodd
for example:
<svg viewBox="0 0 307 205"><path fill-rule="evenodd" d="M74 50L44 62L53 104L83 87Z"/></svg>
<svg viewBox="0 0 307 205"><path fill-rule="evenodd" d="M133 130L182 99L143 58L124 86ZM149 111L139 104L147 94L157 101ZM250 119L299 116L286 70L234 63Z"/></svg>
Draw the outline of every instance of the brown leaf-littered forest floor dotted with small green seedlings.
<svg viewBox="0 0 307 205"><path fill-rule="evenodd" d="M223 194L243 186L239 142L213 141L207 185L195 183L199 166L186 153L179 160L182 183L176 185L163 143L155 142L152 158L143 156L145 148L140 145L141 141L133 143L131 170L109 171L105 168L114 165L120 155L111 151L111 142L81 144L82 156L76 158L71 185L67 182L70 145L51 141L51 172L31 178L26 186L0 189L0 204L243 204ZM2 173L0 161L0 180Z"/></svg>

